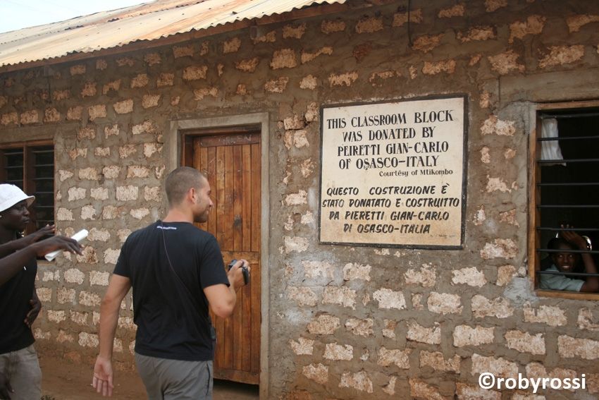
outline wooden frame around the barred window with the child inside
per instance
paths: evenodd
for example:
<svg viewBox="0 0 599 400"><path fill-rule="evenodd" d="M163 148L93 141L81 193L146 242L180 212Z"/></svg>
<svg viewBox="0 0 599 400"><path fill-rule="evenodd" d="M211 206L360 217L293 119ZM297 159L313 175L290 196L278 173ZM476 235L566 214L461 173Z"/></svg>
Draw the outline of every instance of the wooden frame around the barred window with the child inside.
<svg viewBox="0 0 599 400"><path fill-rule="evenodd" d="M595 300L599 301L599 293L576 293L572 291L557 291L538 289L537 273L541 267L541 257L537 249L541 248L540 235L537 233L537 226L541 222L541 211L537 207L541 203L541 193L538 190L537 183L541 181L541 168L538 166L538 157L541 153L541 146L538 138L541 137L541 112L543 111L564 111L567 109L599 107L599 100L574 101L574 102L555 102L539 103L531 110L531 120L533 128L529 135L529 226L528 226L528 268L532 287L539 297L566 298L570 300Z"/></svg>

